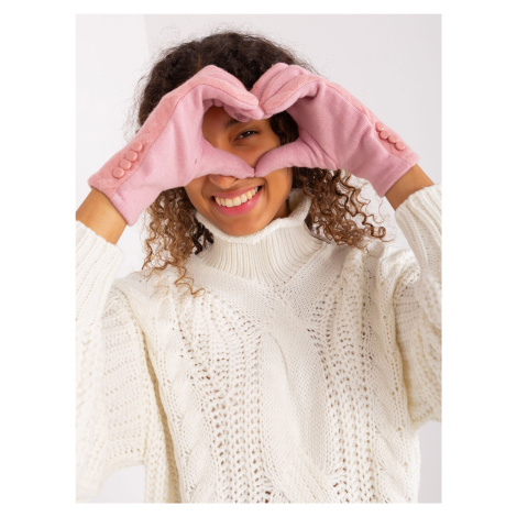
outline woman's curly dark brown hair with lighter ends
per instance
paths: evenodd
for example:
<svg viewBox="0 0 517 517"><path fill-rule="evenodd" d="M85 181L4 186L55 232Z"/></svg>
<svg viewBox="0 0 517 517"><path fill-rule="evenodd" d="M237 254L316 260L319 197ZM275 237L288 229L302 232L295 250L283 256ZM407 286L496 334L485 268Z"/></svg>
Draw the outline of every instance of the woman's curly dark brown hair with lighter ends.
<svg viewBox="0 0 517 517"><path fill-rule="evenodd" d="M136 98L138 124L142 127L164 95L177 88L207 65L216 65L240 79L248 90L276 63L299 65L316 73L312 66L293 51L258 34L217 31L206 37L175 45L160 53L148 75L139 81ZM270 119L280 145L298 138L298 127L287 113ZM312 198L305 220L311 233L327 242L363 248L370 239L383 239L384 227L375 226L366 212L369 200L360 197L361 187L350 183L345 170L293 167L293 187L302 188ZM184 187L163 191L146 211L146 257L142 270L152 272L174 266L180 276L175 284L189 287L185 261L213 243L211 232L195 218L196 208ZM373 222L371 222L371 220ZM322 235L321 235L322 233ZM187 280L191 280L188 283Z"/></svg>

